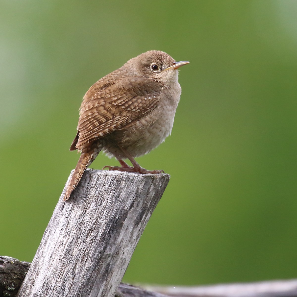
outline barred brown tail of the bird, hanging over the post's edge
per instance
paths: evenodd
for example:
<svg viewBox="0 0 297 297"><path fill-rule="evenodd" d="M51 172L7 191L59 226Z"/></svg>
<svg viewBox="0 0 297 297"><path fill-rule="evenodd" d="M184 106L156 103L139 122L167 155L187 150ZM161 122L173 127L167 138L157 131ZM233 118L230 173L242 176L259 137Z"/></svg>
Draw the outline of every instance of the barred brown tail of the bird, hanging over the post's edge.
<svg viewBox="0 0 297 297"><path fill-rule="evenodd" d="M71 193L74 191L81 177L83 176L83 173L85 172L86 168L89 165L91 165L91 163L94 161L94 159L97 157L98 154L99 154L99 151L93 150L93 151L82 153L80 155L78 163L67 185L65 196L63 199L64 201L69 199Z"/></svg>

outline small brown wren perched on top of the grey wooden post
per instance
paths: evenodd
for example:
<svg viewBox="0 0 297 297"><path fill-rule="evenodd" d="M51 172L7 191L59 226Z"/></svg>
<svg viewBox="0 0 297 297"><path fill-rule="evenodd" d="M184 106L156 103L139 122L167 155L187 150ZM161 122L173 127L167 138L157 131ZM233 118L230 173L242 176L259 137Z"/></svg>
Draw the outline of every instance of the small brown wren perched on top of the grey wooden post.
<svg viewBox="0 0 297 297"><path fill-rule="evenodd" d="M170 135L181 96L177 69L188 63L150 50L91 86L83 97L78 132L70 146L70 151L78 149L81 155L64 200L100 151L120 162L121 167L104 167L109 170L164 173L146 170L134 158L147 154ZM133 167L123 159L129 159Z"/></svg>

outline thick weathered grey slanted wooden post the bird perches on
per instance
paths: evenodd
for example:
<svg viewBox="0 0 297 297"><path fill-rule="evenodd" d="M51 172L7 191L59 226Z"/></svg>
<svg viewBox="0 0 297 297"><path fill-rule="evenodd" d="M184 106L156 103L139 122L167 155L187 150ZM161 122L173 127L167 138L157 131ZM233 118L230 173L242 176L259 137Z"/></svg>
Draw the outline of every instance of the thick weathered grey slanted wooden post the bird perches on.
<svg viewBox="0 0 297 297"><path fill-rule="evenodd" d="M113 297L169 178L86 170L67 202L64 189L18 296Z"/></svg>

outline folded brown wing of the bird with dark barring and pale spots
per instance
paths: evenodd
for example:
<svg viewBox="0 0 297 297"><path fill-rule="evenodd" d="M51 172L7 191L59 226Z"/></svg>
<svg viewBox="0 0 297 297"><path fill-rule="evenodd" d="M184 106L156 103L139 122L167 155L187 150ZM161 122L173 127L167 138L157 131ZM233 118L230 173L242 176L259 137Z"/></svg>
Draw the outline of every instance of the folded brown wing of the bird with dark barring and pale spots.
<svg viewBox="0 0 297 297"><path fill-rule="evenodd" d="M159 94L159 84L149 78L123 78L99 89L95 83L80 107L75 148L143 118L158 107Z"/></svg>

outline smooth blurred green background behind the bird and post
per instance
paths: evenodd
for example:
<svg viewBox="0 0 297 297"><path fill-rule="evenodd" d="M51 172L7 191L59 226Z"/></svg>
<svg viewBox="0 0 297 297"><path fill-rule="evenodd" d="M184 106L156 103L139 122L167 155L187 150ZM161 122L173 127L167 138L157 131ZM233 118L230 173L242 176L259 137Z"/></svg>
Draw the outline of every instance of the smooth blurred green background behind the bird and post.
<svg viewBox="0 0 297 297"><path fill-rule="evenodd" d="M137 159L171 179L124 281L297 277L297 1L1 0L0 15L0 255L32 261L88 88L156 49L191 64L172 135Z"/></svg>

